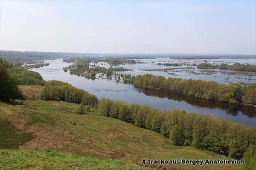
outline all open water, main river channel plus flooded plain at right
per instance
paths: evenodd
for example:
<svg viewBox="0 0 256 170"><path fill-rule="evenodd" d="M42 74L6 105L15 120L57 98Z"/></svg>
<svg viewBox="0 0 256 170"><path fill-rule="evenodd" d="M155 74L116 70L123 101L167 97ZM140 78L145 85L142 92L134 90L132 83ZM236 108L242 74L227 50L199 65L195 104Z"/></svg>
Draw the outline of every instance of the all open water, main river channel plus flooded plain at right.
<svg viewBox="0 0 256 170"><path fill-rule="evenodd" d="M208 60L209 63L228 63L233 64L235 62L239 63L249 63L255 64L254 59L248 60L232 60L232 59L212 59ZM138 61L138 60L137 60ZM183 79L201 79L205 81L217 81L221 84L239 83L243 81L244 83L255 83L256 75L253 72L246 72L248 75L230 75L224 73L215 74L193 74L191 72L186 72L186 69L175 69L172 70L175 74L168 74L169 72L162 71L143 71L145 69L166 69L166 68L177 68L184 66L158 66L156 63L202 63L204 60L170 60L169 58L160 59L143 59L140 60L142 63L136 64L125 64L122 67L132 69L130 71L122 72L131 75L143 75L146 73L161 75L166 78L183 78ZM254 61L254 63L253 63ZM67 67L71 63L64 63L62 59L45 61L50 63L49 66L42 68L33 68L32 71L39 72L45 80L59 80L64 81L76 86L78 88L84 89L94 95L99 99L105 97L113 100L125 101L128 104L137 103L143 105L150 105L155 109L182 109L186 112L197 112L201 114L211 115L212 117L222 118L229 121L240 122L246 125L256 126L256 107L243 106L237 104L227 104L217 101L210 101L201 98L195 98L192 96L184 96L175 93L169 93L165 91L147 91L143 89L136 88L132 85L122 84L115 82L114 79L107 80L103 78L98 78L96 80L88 80L84 77L78 77L76 75L70 75L69 72L64 72L63 67ZM197 69L194 67L196 72L203 71L205 69ZM190 69L189 69L190 70ZM218 70L217 72L237 72L231 70ZM96 75L98 77L99 75ZM240 77L240 78L235 78ZM250 78L249 78L250 77ZM226 79L225 79L226 78ZM228 78L228 80L227 80ZM249 78L249 79L248 79Z"/></svg>

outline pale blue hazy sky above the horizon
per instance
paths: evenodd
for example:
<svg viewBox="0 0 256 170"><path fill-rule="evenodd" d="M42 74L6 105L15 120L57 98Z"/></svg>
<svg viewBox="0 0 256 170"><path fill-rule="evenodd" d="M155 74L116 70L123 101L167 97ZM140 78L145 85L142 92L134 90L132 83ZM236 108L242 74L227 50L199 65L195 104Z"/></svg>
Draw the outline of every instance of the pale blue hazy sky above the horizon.
<svg viewBox="0 0 256 170"><path fill-rule="evenodd" d="M0 0L0 50L256 54L256 1Z"/></svg>

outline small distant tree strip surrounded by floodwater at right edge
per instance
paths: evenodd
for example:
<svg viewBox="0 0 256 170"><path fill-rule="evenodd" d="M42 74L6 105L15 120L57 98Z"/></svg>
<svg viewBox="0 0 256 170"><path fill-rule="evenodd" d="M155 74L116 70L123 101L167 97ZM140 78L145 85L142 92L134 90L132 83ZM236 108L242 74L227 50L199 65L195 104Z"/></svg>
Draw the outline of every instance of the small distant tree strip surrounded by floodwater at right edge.
<svg viewBox="0 0 256 170"><path fill-rule="evenodd" d="M197 68L198 69L229 69L229 70L237 70L237 71L256 72L256 65L240 64L240 63L234 63L233 65L228 65L224 63L222 63L221 65L200 63L198 64Z"/></svg>

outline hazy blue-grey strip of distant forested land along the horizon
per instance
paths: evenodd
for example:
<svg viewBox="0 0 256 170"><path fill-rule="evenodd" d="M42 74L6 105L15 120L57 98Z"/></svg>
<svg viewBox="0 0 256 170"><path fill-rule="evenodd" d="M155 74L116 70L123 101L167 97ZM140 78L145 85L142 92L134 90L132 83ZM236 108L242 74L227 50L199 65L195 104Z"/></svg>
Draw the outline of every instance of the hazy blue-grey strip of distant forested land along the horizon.
<svg viewBox="0 0 256 170"><path fill-rule="evenodd" d="M243 54L221 54L221 53L71 53L71 52L19 52L0 50L0 58L3 60L10 58L18 58L23 56L24 61L29 60L49 60L58 58L74 58L74 57L121 57L126 59L154 59L154 58L170 58L170 59L256 59L256 55Z"/></svg>

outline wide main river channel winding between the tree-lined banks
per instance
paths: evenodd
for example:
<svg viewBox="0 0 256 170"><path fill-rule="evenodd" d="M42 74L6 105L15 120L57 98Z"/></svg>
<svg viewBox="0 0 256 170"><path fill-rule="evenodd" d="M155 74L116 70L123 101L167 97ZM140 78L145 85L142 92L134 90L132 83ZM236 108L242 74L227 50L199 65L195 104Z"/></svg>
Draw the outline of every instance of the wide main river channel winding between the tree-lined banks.
<svg viewBox="0 0 256 170"><path fill-rule="evenodd" d="M67 67L68 65L70 65L70 63L64 63L62 62L62 59L49 60L45 62L50 63L50 65L43 68L33 68L30 70L39 72L45 80L54 79L68 82L73 86L84 89L96 95L99 99L105 97L113 100L125 101L128 104L136 103L150 105L152 108L155 109L182 109L188 113L196 112L201 114L207 114L216 118L256 126L256 107L226 103L224 104L216 101L198 99L191 96L184 97L179 94L166 93L163 91L149 92L143 89L138 89L132 85L116 83L114 80L110 81L101 78L94 81L88 80L84 77L78 77L76 75L70 75L69 72L64 72L63 67ZM150 64L152 64L152 66L154 65L153 63ZM137 65L138 64L133 64L131 66L136 67ZM128 64L125 65L125 67L128 66ZM143 64L140 64L139 66L143 67ZM147 67L146 63L145 67ZM140 73L144 74L145 72ZM163 72L157 72L155 74L158 75L162 73ZM189 73L186 73L184 75L191 78L197 76L189 76ZM204 77L206 77L206 80L208 79L207 76L208 75L204 75ZM204 80L204 78L202 78L202 80ZM253 80L252 82L255 82L255 80Z"/></svg>

